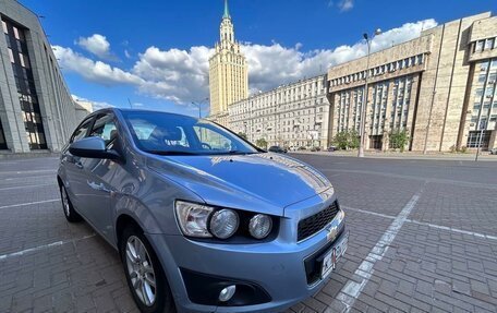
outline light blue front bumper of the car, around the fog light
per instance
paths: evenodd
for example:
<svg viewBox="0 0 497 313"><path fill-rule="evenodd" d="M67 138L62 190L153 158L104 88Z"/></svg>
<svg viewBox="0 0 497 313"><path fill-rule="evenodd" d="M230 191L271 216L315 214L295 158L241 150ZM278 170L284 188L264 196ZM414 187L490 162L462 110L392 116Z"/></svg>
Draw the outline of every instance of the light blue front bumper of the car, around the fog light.
<svg viewBox="0 0 497 313"><path fill-rule="evenodd" d="M329 228L325 228L300 243L284 237L254 244L201 242L182 236L147 237L162 262L179 312L277 312L313 296L325 285L328 278L308 281L307 264L348 236L343 225L331 241ZM269 297L268 302L242 306L195 303L195 297L189 294L192 282L185 279L185 270L253 285L257 292Z"/></svg>

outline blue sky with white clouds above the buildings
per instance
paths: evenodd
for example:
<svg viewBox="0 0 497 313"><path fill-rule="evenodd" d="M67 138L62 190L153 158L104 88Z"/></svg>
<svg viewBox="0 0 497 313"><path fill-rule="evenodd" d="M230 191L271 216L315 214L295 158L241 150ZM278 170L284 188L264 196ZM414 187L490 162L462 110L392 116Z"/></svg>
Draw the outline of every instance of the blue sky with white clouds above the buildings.
<svg viewBox="0 0 497 313"><path fill-rule="evenodd" d="M41 23L71 93L99 104L194 115L208 95L207 60L218 39L222 0L21 0ZM409 40L421 28L496 11L495 0L230 0L252 92L268 89ZM424 22L422 22L424 21ZM390 31L390 32L389 32ZM284 63L282 60L286 60Z"/></svg>

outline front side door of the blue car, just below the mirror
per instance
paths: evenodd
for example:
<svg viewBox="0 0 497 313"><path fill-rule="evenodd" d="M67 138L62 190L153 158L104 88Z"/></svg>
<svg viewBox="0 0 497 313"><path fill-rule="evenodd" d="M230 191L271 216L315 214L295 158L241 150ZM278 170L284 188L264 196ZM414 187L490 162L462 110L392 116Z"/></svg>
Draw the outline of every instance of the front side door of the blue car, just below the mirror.
<svg viewBox="0 0 497 313"><path fill-rule="evenodd" d="M89 136L101 137L106 142L106 147L111 149L119 141L117 121L113 113L102 113L96 117ZM110 184L116 173L119 161L98 158L81 158L81 181L82 198L84 203L85 217L87 220L106 238L112 236L112 212L111 194L113 188Z"/></svg>

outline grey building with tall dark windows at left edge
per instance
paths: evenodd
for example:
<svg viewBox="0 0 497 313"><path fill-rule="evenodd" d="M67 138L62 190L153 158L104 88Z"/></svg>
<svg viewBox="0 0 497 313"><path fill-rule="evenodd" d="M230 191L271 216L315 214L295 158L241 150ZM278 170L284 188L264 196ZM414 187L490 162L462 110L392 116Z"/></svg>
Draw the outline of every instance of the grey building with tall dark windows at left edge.
<svg viewBox="0 0 497 313"><path fill-rule="evenodd" d="M0 0L0 153L59 152L77 123L38 16Z"/></svg>

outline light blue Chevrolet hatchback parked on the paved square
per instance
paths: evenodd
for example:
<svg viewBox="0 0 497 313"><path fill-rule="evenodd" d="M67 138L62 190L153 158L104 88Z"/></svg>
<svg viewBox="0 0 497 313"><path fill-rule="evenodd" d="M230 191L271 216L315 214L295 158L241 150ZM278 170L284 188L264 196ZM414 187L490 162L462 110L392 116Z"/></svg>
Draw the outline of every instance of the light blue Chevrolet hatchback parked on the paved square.
<svg viewBox="0 0 497 313"><path fill-rule="evenodd" d="M119 251L142 312L276 312L316 293L348 243L334 188L206 120L105 109L72 134L63 213Z"/></svg>

